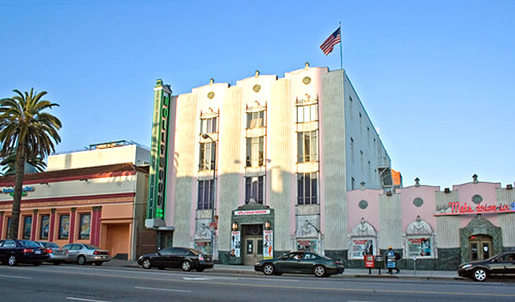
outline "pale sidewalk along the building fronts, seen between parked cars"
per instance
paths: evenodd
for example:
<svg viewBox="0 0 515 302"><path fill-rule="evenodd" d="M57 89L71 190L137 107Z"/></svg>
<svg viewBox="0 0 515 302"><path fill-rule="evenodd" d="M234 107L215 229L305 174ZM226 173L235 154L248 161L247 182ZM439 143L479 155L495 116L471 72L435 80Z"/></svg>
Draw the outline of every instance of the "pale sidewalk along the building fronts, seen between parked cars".
<svg viewBox="0 0 515 302"><path fill-rule="evenodd" d="M106 262L104 266L111 267L132 267L141 268L135 261L112 259ZM251 274L251 275L263 275L262 272L256 272L254 266L245 265L229 265L229 264L215 264L214 268L206 270L211 273L233 273L233 274ZM331 277L373 277L373 278L402 278L402 279L457 279L458 274L453 270L400 270L400 273L389 275L386 269L381 269L381 275L379 270L372 269L371 275L367 268L345 268L345 272L341 275L332 275Z"/></svg>

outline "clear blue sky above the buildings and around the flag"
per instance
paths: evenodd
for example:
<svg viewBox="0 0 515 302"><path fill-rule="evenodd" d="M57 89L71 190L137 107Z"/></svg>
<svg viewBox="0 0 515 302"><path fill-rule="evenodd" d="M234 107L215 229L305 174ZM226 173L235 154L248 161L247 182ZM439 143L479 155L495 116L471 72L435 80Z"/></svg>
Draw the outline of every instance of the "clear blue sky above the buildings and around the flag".
<svg viewBox="0 0 515 302"><path fill-rule="evenodd" d="M404 186L515 181L515 1L0 0L0 97L46 90L58 152L150 145L152 93L343 67Z"/></svg>

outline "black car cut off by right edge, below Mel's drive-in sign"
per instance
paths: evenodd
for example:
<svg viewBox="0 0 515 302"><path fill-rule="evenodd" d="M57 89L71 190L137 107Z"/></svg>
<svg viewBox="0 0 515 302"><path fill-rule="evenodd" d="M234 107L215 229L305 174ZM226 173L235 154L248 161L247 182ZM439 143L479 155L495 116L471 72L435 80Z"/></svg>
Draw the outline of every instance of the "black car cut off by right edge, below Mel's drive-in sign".
<svg viewBox="0 0 515 302"><path fill-rule="evenodd" d="M487 260L461 264L458 275L475 281L485 281L488 277L515 278L515 252L503 252Z"/></svg>

